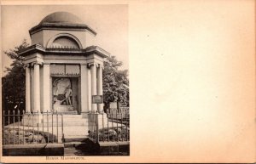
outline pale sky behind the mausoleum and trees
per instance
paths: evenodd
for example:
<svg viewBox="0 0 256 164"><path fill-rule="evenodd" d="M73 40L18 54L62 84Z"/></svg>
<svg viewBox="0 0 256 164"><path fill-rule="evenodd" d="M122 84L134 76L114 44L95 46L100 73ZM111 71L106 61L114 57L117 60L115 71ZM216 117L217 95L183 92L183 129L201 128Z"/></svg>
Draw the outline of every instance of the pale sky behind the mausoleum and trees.
<svg viewBox="0 0 256 164"><path fill-rule="evenodd" d="M127 5L3 5L1 8L3 71L11 63L11 59L3 54L3 51L20 45L23 39L31 43L29 29L38 25L45 16L56 11L77 15L84 24L97 32L97 46L123 62L120 70L128 69Z"/></svg>

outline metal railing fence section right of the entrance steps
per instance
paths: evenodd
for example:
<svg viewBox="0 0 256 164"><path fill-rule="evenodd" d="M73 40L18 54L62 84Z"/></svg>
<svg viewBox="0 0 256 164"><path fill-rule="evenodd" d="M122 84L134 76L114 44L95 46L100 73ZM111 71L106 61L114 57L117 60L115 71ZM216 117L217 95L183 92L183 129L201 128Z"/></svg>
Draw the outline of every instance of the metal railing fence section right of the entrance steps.
<svg viewBox="0 0 256 164"><path fill-rule="evenodd" d="M90 114L89 139L99 142L130 141L129 110L110 110L104 113Z"/></svg>

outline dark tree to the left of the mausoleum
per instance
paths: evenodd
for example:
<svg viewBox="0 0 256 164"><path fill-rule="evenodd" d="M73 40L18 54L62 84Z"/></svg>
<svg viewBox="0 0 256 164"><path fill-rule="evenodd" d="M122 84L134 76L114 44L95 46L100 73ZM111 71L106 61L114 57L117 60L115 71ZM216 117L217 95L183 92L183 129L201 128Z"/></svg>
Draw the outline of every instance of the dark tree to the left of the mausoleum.
<svg viewBox="0 0 256 164"><path fill-rule="evenodd" d="M25 110L25 69L24 58L18 55L19 51L28 47L26 40L20 46L5 51L4 54L13 59L10 67L6 67L7 75L2 77L2 104L3 110Z"/></svg>

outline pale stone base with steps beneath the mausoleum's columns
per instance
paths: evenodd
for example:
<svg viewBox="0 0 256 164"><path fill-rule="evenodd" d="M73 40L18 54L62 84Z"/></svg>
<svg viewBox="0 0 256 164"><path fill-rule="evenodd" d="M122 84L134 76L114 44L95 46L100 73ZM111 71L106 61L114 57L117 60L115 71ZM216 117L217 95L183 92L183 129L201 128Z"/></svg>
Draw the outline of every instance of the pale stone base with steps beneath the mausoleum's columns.
<svg viewBox="0 0 256 164"><path fill-rule="evenodd" d="M61 141L61 117L63 117L63 134L65 139L86 139L89 135L89 130L92 132L96 130L96 114L88 112L81 113L81 115L58 115L58 117L56 115L52 116L49 113L48 119L46 114L44 116L42 114L24 115L22 122L24 122L26 128L32 129L34 127L35 130L40 132L48 132L49 130L49 133L54 133L58 140ZM97 122L99 129L112 126L108 122L108 117L105 113L97 114ZM113 123L113 126L115 127L116 123Z"/></svg>

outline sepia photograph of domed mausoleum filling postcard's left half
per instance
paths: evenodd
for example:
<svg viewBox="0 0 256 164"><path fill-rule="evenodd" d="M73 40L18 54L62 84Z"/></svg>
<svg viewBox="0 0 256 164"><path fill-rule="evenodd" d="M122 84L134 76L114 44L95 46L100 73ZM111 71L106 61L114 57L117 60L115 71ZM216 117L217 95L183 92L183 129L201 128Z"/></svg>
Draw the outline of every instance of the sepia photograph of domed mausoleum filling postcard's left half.
<svg viewBox="0 0 256 164"><path fill-rule="evenodd" d="M3 156L129 156L127 14L2 6Z"/></svg>

